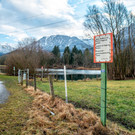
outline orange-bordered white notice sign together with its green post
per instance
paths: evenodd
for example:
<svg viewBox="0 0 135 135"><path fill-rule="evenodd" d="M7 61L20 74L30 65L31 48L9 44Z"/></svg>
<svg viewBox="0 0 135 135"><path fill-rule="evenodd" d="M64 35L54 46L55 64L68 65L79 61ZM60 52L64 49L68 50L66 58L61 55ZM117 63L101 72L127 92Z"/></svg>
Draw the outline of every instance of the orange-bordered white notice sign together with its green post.
<svg viewBox="0 0 135 135"><path fill-rule="evenodd" d="M106 126L107 63L113 62L112 33L94 36L94 63L101 63L101 110L100 119Z"/></svg>

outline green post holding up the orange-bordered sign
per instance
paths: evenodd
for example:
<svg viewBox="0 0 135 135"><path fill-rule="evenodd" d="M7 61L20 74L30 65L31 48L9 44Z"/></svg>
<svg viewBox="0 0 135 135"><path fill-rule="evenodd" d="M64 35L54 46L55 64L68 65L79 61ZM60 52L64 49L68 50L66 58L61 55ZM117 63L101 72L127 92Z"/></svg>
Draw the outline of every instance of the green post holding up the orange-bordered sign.
<svg viewBox="0 0 135 135"><path fill-rule="evenodd" d="M106 96L107 96L107 64L101 64L101 112L100 118L103 126L106 126Z"/></svg>

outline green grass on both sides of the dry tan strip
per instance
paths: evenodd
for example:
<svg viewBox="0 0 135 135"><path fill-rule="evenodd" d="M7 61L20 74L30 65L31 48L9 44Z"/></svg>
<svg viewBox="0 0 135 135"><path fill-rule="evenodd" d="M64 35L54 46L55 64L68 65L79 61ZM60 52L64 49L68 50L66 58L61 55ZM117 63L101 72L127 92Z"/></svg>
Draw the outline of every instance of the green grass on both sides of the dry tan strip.
<svg viewBox="0 0 135 135"><path fill-rule="evenodd" d="M33 98L17 84L17 77L0 76L10 92L5 104L0 104L0 134L21 134L29 119L27 111ZM107 125L111 121L134 132L135 128L135 80L108 81L107 86ZM24 82L25 85L25 82ZM48 80L37 79L37 86L49 93ZM67 81L68 100L78 108L93 110L100 115L100 81ZM54 81L55 95L65 100L64 81ZM121 128L121 126L120 126Z"/></svg>

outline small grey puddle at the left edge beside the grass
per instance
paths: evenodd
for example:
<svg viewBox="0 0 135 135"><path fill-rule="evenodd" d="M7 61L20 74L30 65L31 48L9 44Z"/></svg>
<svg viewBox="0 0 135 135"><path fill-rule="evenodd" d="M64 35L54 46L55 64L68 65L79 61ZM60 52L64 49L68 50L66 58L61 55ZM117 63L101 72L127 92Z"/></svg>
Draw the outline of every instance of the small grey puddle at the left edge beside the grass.
<svg viewBox="0 0 135 135"><path fill-rule="evenodd" d="M0 81L0 104L5 103L5 101L8 99L9 92L7 91L5 85L2 81Z"/></svg>

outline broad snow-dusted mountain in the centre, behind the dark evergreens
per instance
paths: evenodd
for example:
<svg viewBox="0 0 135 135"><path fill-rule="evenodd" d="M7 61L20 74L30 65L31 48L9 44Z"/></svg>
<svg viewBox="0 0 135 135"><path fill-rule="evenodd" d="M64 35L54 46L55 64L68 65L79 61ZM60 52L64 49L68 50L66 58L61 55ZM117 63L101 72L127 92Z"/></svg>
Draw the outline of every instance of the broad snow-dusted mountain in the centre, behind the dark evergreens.
<svg viewBox="0 0 135 135"><path fill-rule="evenodd" d="M91 49L93 46L91 42L86 43L77 37L65 35L52 35L49 37L43 37L38 42L43 47L43 49L47 51L52 51L55 45L59 46L60 52L64 52L64 49L67 46L69 46L71 50L76 45L76 47L82 51L84 51L86 48Z"/></svg>

